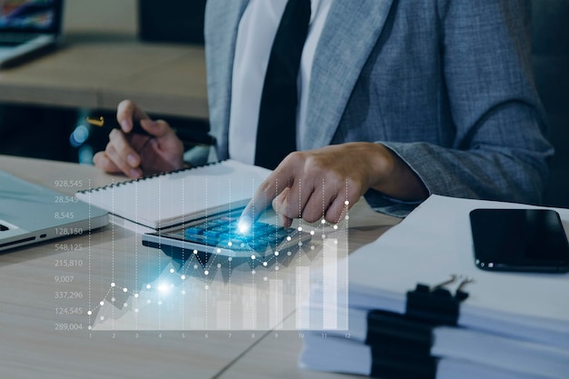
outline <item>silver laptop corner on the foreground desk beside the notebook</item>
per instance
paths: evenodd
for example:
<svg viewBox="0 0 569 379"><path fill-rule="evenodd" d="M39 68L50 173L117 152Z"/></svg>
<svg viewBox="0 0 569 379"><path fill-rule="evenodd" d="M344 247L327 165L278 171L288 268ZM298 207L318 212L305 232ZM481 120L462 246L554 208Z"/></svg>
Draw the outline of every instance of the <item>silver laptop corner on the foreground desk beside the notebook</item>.
<svg viewBox="0 0 569 379"><path fill-rule="evenodd" d="M105 211L74 195L0 171L0 251L86 234L106 224Z"/></svg>

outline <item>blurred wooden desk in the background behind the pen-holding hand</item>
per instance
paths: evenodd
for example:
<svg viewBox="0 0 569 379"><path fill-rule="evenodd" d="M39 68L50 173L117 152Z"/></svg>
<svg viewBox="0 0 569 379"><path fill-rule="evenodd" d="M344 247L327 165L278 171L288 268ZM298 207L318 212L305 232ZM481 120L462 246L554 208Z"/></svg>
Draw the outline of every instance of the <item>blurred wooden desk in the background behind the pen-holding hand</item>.
<svg viewBox="0 0 569 379"><path fill-rule="evenodd" d="M147 44L135 35L70 32L65 45L0 71L0 102L115 110L125 98L149 113L206 119L202 46Z"/></svg>

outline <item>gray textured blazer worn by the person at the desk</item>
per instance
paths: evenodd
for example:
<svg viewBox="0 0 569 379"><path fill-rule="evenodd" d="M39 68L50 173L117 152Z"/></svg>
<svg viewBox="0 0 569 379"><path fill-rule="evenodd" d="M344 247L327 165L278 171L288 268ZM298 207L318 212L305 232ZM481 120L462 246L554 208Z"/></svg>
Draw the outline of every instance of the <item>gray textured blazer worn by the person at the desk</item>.
<svg viewBox="0 0 569 379"><path fill-rule="evenodd" d="M237 26L248 0L208 0L212 133L227 157ZM553 154L524 0L335 0L314 56L299 150L379 142L431 194L539 203ZM253 136L252 136L253 137ZM402 204L369 191L372 206Z"/></svg>

